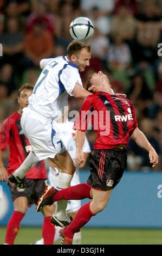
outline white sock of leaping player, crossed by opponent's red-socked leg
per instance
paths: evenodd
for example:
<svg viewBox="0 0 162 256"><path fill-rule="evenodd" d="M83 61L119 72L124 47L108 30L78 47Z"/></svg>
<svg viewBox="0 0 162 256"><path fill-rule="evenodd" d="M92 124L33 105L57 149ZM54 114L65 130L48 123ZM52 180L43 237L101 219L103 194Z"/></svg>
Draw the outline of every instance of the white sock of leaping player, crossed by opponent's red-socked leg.
<svg viewBox="0 0 162 256"><path fill-rule="evenodd" d="M70 182L73 178L73 175L67 173L59 173L59 177L57 180L56 190L62 190L63 188L67 188L70 186ZM60 221L63 221L66 217L66 208L67 208L67 200L57 201L56 211L54 216L56 216Z"/></svg>

